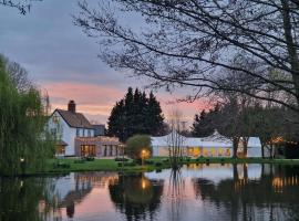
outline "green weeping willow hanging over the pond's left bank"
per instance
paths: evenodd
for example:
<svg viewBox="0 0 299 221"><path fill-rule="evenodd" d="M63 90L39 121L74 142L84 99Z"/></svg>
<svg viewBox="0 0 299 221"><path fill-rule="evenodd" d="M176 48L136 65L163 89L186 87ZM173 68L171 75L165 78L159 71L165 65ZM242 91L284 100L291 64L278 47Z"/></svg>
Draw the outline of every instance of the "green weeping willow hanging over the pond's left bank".
<svg viewBox="0 0 299 221"><path fill-rule="evenodd" d="M16 175L38 169L53 151L44 133L42 97L35 88L19 92L0 59L0 173Z"/></svg>

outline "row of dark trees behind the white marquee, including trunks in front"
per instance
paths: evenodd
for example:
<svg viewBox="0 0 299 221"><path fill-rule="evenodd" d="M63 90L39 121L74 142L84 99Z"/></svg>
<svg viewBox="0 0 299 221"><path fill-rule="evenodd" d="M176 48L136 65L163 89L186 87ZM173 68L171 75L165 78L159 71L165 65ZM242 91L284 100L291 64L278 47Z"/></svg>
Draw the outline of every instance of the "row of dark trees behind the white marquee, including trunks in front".
<svg viewBox="0 0 299 221"><path fill-rule="evenodd" d="M195 115L192 126L194 136L205 137L214 129L230 137L234 157L237 157L240 143L243 154L247 155L249 137L259 137L262 157L266 148L274 157L278 138L282 143L298 140L299 136L297 113L279 105L265 105L250 96L236 93L221 94L221 99L218 99L214 108Z"/></svg>

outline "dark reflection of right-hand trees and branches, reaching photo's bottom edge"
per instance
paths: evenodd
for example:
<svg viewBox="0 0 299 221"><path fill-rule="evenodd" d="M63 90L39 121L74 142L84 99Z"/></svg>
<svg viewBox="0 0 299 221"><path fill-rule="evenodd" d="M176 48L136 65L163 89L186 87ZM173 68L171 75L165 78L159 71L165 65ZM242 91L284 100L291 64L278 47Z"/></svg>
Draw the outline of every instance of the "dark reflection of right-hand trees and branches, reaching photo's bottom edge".
<svg viewBox="0 0 299 221"><path fill-rule="evenodd" d="M214 207L225 207L231 220L299 220L298 168L271 167L268 173L261 168L259 179L248 179L247 166L243 169L240 176L234 165L234 178L218 185L193 179L196 197Z"/></svg>

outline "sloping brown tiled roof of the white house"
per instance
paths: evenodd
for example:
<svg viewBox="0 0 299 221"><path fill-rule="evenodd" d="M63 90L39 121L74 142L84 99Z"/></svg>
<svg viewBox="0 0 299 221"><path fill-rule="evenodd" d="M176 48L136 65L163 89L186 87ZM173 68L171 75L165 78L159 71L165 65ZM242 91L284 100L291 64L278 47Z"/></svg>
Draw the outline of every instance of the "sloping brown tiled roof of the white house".
<svg viewBox="0 0 299 221"><path fill-rule="evenodd" d="M56 109L56 112L62 116L70 127L93 129L91 123L81 113L73 113L64 109Z"/></svg>

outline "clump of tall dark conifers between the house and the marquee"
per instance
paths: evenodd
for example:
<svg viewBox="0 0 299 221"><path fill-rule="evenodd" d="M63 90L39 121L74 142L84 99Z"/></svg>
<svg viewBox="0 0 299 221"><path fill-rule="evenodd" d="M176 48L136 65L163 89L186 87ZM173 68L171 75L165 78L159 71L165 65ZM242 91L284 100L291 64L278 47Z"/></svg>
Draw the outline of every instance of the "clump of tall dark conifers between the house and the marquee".
<svg viewBox="0 0 299 221"><path fill-rule="evenodd" d="M147 97L145 92L128 87L124 98L116 102L109 117L109 131L122 141L135 134L161 134L163 128L163 114L159 103L151 92Z"/></svg>

